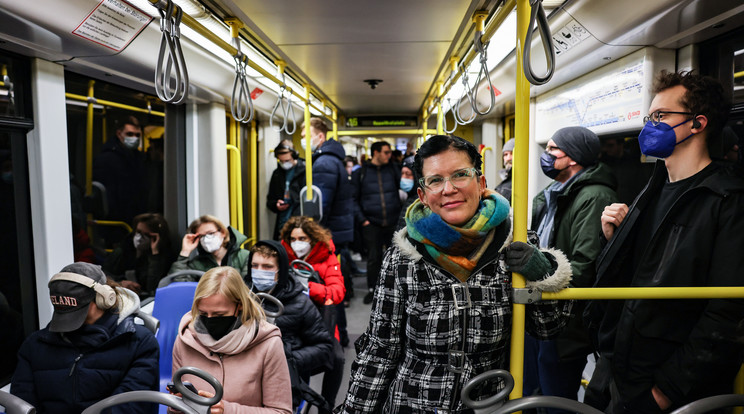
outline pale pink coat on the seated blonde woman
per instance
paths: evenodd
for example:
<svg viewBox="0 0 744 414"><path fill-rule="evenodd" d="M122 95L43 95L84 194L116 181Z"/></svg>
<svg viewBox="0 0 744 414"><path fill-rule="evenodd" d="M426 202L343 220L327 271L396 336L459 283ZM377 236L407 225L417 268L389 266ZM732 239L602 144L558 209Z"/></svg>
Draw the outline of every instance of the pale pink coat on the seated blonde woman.
<svg viewBox="0 0 744 414"><path fill-rule="evenodd" d="M247 323L219 341L194 330L191 312L179 325L173 346L173 372L201 368L224 387L225 414L292 412L292 386L281 333L274 325ZM185 375L198 390L212 392L205 381Z"/></svg>

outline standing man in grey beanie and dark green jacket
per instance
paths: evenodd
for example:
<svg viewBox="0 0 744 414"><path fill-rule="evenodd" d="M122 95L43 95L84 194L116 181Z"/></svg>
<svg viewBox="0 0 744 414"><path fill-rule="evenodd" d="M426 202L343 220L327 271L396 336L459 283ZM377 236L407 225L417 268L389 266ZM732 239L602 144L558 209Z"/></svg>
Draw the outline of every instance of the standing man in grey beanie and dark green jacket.
<svg viewBox="0 0 744 414"><path fill-rule="evenodd" d="M532 203L532 230L541 248L557 248L571 262L572 287L591 287L599 240L602 209L618 201L617 180L598 161L597 134L584 127L558 130L540 156L543 173L554 181ZM525 395L540 388L543 395L576 400L581 373L591 344L581 323L584 302L574 304L571 319L557 339L525 337ZM556 409L552 413L563 413Z"/></svg>

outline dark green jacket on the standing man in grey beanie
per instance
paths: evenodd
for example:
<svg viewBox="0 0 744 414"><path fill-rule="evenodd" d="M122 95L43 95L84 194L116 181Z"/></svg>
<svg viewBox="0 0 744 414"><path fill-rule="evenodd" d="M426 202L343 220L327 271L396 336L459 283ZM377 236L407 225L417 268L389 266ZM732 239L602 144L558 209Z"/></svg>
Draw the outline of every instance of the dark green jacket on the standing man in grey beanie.
<svg viewBox="0 0 744 414"><path fill-rule="evenodd" d="M618 202L615 188L617 180L610 167L598 163L569 184L557 198L553 240L549 240L548 245L563 251L571 261L571 286L594 285L595 261L602 251L600 219L606 206ZM532 201L533 230L540 226L547 207L545 193L541 191Z"/></svg>

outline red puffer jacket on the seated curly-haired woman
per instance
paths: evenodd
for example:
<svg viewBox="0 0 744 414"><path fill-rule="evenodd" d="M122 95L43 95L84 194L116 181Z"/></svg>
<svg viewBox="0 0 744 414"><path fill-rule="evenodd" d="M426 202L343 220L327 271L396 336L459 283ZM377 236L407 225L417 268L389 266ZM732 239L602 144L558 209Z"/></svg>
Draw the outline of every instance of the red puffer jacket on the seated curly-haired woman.
<svg viewBox="0 0 744 414"><path fill-rule="evenodd" d="M289 262L297 260L297 254L295 254L292 247L290 247L284 240L282 240L282 246L287 250L289 255ZM315 243L310 253L304 259L310 263L318 272L318 275L325 282L325 285L320 283L310 282L310 299L313 302L323 305L325 304L326 298L330 298L334 305L338 305L344 300L346 294L346 287L344 287L344 276L341 274L341 265L338 264L336 256L331 254L332 251L336 250L333 245L333 241L329 240L328 244Z"/></svg>

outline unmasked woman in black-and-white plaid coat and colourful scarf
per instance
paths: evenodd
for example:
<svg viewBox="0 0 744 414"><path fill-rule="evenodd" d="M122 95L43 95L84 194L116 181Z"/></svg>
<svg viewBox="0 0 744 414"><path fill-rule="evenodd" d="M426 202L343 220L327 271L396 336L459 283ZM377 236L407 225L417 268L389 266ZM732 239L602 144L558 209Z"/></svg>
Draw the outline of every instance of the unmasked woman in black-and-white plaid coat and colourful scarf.
<svg viewBox="0 0 744 414"><path fill-rule="evenodd" d="M385 254L367 331L357 341L346 413L466 411L462 386L508 367L511 273L557 291L571 268L556 250L511 241L509 202L486 188L477 148L437 135L414 161L420 188ZM527 330L560 332L570 301L527 306ZM493 395L487 384L471 396Z"/></svg>

